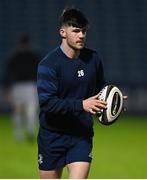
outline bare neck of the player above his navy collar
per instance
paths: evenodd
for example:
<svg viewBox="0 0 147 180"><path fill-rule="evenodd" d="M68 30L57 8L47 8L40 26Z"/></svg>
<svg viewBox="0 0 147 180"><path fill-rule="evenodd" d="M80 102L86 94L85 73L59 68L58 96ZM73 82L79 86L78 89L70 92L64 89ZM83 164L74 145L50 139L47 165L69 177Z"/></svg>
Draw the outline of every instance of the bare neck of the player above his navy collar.
<svg viewBox="0 0 147 180"><path fill-rule="evenodd" d="M65 55L69 58L77 58L80 55L80 50L71 48L66 43L62 42L61 46L63 47Z"/></svg>

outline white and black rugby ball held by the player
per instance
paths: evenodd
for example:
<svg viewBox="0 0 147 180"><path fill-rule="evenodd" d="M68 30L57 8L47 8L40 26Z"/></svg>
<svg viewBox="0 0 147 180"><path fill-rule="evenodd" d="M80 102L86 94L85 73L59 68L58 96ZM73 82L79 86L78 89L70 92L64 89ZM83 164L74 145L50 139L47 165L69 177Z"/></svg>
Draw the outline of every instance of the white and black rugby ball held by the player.
<svg viewBox="0 0 147 180"><path fill-rule="evenodd" d="M105 86L99 93L98 99L107 102L107 109L97 112L97 119L104 125L114 123L123 108L123 95L120 89L114 85Z"/></svg>

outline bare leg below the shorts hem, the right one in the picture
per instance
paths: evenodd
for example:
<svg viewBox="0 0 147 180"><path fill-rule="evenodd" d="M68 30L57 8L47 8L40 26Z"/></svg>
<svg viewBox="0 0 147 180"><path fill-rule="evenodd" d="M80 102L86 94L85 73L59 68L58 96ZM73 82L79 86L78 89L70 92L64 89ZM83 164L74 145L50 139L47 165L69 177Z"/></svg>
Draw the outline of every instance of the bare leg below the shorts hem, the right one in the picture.
<svg viewBox="0 0 147 180"><path fill-rule="evenodd" d="M74 162L67 165L69 179L86 179L90 170L89 162Z"/></svg>

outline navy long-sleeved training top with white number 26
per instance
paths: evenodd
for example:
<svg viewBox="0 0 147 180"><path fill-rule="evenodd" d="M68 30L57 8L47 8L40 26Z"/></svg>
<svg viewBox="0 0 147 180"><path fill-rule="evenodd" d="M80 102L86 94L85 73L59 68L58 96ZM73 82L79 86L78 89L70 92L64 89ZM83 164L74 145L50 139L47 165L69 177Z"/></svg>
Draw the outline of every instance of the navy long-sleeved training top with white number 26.
<svg viewBox="0 0 147 180"><path fill-rule="evenodd" d="M37 77L40 127L93 136L92 115L84 111L82 101L105 84L97 52L83 48L77 59L71 59L58 47L39 63Z"/></svg>

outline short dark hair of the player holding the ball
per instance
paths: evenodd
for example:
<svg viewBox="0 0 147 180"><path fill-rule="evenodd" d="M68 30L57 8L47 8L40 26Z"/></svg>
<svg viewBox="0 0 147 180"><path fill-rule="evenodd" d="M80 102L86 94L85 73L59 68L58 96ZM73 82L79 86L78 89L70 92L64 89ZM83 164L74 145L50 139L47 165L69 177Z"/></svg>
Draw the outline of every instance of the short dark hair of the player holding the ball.
<svg viewBox="0 0 147 180"><path fill-rule="evenodd" d="M88 28L89 22L80 10L76 8L66 8L59 17L59 28L62 26Z"/></svg>

